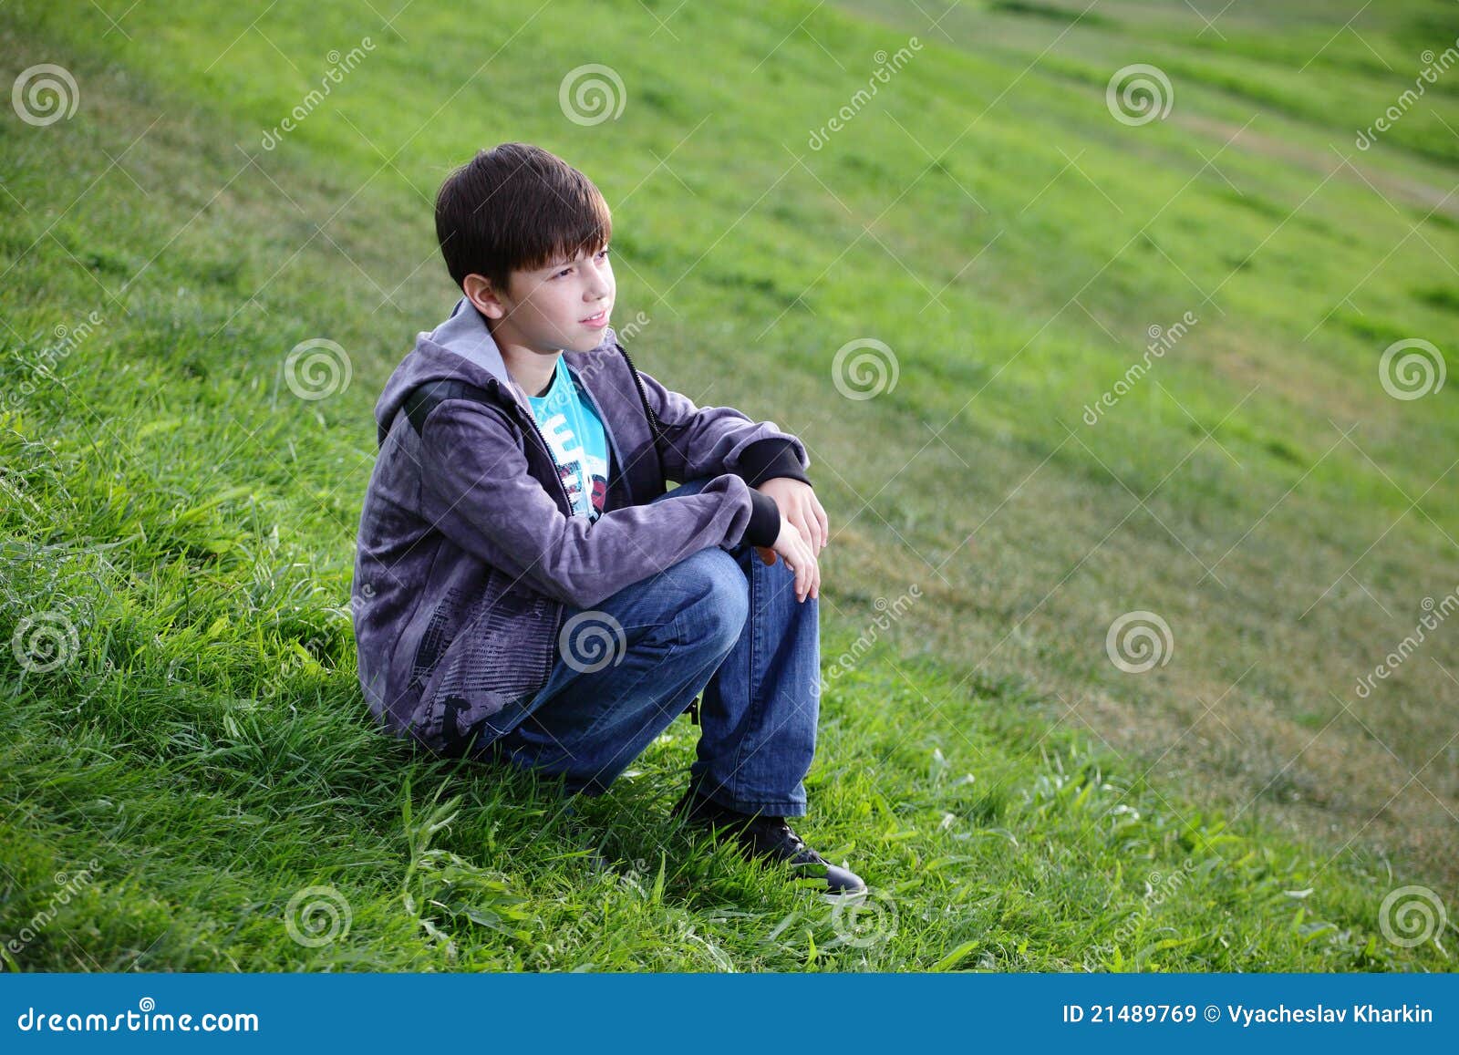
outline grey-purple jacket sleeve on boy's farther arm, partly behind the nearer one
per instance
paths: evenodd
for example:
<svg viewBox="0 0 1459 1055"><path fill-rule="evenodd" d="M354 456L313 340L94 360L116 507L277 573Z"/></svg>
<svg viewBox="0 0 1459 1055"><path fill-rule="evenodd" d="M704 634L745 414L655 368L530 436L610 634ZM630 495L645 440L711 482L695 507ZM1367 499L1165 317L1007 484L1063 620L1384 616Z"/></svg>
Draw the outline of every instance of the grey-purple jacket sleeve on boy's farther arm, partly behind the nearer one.
<svg viewBox="0 0 1459 1055"><path fill-rule="evenodd" d="M776 476L810 483L805 444L775 422L754 422L734 407L699 407L643 371L639 378L664 429L668 479L734 473L751 486Z"/></svg>

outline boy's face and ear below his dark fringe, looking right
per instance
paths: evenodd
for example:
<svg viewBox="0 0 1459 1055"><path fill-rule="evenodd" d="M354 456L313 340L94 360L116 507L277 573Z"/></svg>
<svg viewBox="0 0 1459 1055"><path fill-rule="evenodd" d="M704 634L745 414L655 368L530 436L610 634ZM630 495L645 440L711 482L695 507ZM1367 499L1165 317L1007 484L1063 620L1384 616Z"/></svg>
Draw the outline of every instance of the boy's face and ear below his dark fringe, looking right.
<svg viewBox="0 0 1459 1055"><path fill-rule="evenodd" d="M467 296L492 320L498 344L541 355L591 352L603 343L617 285L608 248L535 271L512 271L505 290L468 274Z"/></svg>

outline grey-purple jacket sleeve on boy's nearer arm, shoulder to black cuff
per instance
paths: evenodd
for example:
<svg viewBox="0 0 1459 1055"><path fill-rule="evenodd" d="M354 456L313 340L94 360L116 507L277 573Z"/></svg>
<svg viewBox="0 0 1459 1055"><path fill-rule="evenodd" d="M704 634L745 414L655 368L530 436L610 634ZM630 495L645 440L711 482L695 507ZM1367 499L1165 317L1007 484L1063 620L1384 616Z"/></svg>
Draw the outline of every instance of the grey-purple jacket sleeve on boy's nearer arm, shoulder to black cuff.
<svg viewBox="0 0 1459 1055"><path fill-rule="evenodd" d="M709 546L769 546L775 501L719 474L696 495L565 517L528 473L505 422L465 400L441 403L420 430L422 514L461 549L554 600L588 608ZM773 518L773 522L772 522ZM769 534L770 541L762 541Z"/></svg>

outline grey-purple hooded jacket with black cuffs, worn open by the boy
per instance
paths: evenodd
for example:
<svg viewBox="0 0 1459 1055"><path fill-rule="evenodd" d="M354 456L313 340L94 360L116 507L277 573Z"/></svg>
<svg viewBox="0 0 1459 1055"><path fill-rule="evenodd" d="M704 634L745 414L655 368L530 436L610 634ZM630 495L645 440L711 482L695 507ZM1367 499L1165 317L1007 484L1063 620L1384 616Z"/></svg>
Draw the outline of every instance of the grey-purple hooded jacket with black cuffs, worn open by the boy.
<svg viewBox="0 0 1459 1055"><path fill-rule="evenodd" d="M464 296L422 333L375 407L350 608L371 714L441 754L547 681L565 606L591 608L708 546L769 546L754 484L807 480L804 444L732 407L696 407L633 369L613 328L563 352L603 420L603 514L573 515L531 407ZM657 435L655 435L657 433ZM713 477L648 505L667 480ZM808 480L807 480L808 482Z"/></svg>

